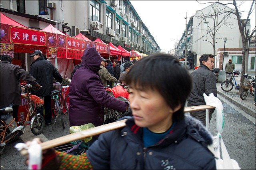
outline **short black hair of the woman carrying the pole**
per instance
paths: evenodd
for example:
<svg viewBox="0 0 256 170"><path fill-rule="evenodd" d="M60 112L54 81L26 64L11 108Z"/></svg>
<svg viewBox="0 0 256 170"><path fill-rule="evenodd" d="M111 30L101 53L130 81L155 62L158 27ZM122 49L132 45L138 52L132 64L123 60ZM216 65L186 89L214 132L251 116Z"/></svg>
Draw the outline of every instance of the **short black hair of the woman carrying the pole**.
<svg viewBox="0 0 256 170"><path fill-rule="evenodd" d="M143 57L131 67L125 80L135 89L159 91L172 109L181 105L173 118L184 119L184 106L192 81L186 67L174 55L154 53Z"/></svg>

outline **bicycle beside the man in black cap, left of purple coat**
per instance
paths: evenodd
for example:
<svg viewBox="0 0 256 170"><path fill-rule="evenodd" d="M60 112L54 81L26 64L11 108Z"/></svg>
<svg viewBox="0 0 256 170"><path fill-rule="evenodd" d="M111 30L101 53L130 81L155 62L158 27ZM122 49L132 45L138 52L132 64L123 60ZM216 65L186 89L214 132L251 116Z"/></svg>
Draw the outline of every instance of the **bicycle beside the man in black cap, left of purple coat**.
<svg viewBox="0 0 256 170"><path fill-rule="evenodd" d="M58 88L58 89L56 89ZM65 129L64 121L63 121L63 97L61 95L61 89L62 85L60 84L60 87L54 87L54 90L51 91L51 97L52 97L52 113L55 116L55 122L56 123L58 117L60 117L60 121L62 123L62 128Z"/></svg>

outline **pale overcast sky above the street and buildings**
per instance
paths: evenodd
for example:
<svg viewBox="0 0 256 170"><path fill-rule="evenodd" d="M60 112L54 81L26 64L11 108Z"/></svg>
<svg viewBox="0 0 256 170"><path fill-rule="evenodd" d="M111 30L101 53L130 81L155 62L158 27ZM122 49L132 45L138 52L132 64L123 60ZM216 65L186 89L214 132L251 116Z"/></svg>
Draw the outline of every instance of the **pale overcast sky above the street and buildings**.
<svg viewBox="0 0 256 170"><path fill-rule="evenodd" d="M182 37L186 28L186 12L187 24L191 16L196 14L196 10L202 10L210 4L199 4L196 0L190 1L177 1L177 0L158 0L158 1L144 1L144 0L130 0L134 6L140 19L150 31L150 34L156 40L156 43L162 49L162 52L168 52L174 49L174 44ZM216 2L200 0L200 3ZM222 3L228 3L228 0L220 0ZM233 1L232 1L233 2ZM240 4L244 1L236 1ZM246 0L238 10L242 12L242 19L245 19L250 10L252 0ZM255 4L255 3L254 3ZM233 8L233 6L229 6ZM251 29L255 27L255 9L250 16ZM176 39L176 40L172 40Z"/></svg>

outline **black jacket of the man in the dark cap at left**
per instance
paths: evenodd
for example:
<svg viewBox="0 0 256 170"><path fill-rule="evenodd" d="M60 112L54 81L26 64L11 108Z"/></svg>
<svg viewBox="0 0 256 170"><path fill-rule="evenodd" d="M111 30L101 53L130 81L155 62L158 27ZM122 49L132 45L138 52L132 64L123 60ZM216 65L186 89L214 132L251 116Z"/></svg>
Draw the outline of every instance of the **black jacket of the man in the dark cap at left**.
<svg viewBox="0 0 256 170"><path fill-rule="evenodd" d="M62 83L62 76L56 68L43 56L32 62L29 73L36 78L36 82L42 87L40 90L31 91L31 94L38 97L50 95L53 90L53 78Z"/></svg>

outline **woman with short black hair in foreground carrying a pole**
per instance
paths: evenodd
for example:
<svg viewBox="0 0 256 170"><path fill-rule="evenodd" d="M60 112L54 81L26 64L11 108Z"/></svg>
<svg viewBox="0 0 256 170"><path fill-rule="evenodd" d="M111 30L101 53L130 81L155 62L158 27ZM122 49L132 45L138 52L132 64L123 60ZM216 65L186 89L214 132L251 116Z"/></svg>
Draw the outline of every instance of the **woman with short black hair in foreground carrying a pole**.
<svg viewBox="0 0 256 170"><path fill-rule="evenodd" d="M126 83L133 116L121 118L126 119L125 127L100 134L79 156L48 149L50 156L43 154L48 162L42 165L52 169L216 169L214 154L207 147L212 144L210 132L184 114L191 78L174 55L154 53L140 59Z"/></svg>

